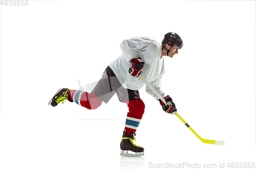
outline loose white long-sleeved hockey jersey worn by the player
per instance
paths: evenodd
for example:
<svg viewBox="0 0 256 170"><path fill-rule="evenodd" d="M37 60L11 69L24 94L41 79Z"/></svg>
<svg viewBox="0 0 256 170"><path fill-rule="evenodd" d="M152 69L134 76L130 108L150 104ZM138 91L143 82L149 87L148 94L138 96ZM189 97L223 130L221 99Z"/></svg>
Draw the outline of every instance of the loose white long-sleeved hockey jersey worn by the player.
<svg viewBox="0 0 256 170"><path fill-rule="evenodd" d="M138 90L145 83L140 78L134 78L129 74L132 67L131 60L141 57L145 62L141 76L149 82L161 96L166 96L161 91L161 78L164 74L164 58L161 57L162 45L150 37L137 37L123 40L120 44L122 55L109 66L124 88ZM146 86L146 91L156 100L159 98Z"/></svg>

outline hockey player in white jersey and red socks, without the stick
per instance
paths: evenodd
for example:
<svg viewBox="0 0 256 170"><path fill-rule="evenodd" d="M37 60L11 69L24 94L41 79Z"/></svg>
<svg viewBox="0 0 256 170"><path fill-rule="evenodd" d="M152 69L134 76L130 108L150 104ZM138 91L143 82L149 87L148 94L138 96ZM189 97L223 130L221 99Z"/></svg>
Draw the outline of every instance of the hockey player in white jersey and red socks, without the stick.
<svg viewBox="0 0 256 170"><path fill-rule="evenodd" d="M133 142L145 109L138 91L145 84L139 76L143 76L147 82L150 82L170 104L170 106L166 106L146 86L146 92L160 102L162 109L170 114L176 113L177 109L172 98L161 90L161 78L164 74L163 56L173 58L182 46L183 42L180 36L174 32L165 34L161 44L150 37L123 40L120 44L122 55L106 67L102 78L91 93L62 88L55 93L49 105L57 106L60 102L64 103L68 100L87 109L97 109L102 101L108 103L117 93L120 102L126 103L129 107L120 143L121 155L143 156L144 148ZM128 151L135 154L128 153Z"/></svg>

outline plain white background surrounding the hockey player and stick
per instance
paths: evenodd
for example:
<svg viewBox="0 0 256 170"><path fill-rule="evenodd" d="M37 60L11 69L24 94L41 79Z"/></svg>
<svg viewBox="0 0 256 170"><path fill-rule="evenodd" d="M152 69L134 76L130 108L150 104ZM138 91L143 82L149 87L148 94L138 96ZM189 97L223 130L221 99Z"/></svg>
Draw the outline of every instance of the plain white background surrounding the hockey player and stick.
<svg viewBox="0 0 256 170"><path fill-rule="evenodd" d="M136 144L121 157L127 106L48 106L59 88L99 80L123 39L176 32L163 91L202 143L145 87ZM0 169L148 169L150 164L255 162L255 1L29 1L1 6ZM223 169L223 168L222 168ZM238 168L239 169L239 168ZM242 169L242 168L240 168ZM246 169L246 168L244 168Z"/></svg>

